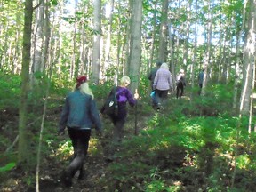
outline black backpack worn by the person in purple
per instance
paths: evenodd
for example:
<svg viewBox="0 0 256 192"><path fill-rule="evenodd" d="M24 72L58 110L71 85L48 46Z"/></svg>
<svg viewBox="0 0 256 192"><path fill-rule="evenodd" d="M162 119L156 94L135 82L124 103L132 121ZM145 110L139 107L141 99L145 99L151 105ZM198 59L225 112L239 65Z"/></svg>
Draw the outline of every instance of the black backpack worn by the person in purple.
<svg viewBox="0 0 256 192"><path fill-rule="evenodd" d="M106 115L117 115L118 114L118 105L116 99L116 87L108 95L107 100L104 103L103 113Z"/></svg>

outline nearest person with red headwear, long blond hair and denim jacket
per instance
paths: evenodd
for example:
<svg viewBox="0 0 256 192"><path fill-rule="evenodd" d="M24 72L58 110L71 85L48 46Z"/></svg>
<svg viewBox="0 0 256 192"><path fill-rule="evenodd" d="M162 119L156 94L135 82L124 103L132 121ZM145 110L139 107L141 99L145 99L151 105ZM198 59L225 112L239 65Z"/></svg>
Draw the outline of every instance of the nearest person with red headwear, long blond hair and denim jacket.
<svg viewBox="0 0 256 192"><path fill-rule="evenodd" d="M74 158L61 177L67 187L72 185L72 178L77 171L80 171L78 179L81 180L84 177L84 159L87 155L93 125L97 133L101 134L99 111L87 83L87 77L77 76L74 90L66 97L58 130L58 134L61 134L68 127L68 135L74 149Z"/></svg>

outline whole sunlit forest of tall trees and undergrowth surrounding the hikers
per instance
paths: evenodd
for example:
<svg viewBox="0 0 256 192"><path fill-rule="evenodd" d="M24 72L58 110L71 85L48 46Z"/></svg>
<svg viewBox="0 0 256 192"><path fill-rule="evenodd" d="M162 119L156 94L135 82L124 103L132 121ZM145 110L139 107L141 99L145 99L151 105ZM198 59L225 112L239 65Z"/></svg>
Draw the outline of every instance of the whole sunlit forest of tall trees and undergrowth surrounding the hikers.
<svg viewBox="0 0 256 192"><path fill-rule="evenodd" d="M0 0L0 191L255 191L255 22L256 0ZM174 83L159 110L157 61ZM122 76L140 97L111 161L113 124L100 116L85 177L67 188L74 151L57 131L79 75L99 111Z"/></svg>

